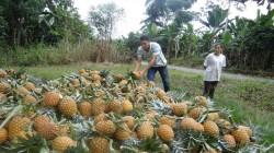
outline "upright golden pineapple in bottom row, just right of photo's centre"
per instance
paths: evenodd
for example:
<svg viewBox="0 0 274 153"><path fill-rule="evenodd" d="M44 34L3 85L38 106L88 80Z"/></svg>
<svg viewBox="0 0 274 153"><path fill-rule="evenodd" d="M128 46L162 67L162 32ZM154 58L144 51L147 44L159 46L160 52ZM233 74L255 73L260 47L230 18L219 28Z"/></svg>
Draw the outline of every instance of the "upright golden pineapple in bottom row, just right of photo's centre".
<svg viewBox="0 0 274 153"><path fill-rule="evenodd" d="M153 137L153 126L150 121L144 121L137 129L137 137L140 140L150 139Z"/></svg>

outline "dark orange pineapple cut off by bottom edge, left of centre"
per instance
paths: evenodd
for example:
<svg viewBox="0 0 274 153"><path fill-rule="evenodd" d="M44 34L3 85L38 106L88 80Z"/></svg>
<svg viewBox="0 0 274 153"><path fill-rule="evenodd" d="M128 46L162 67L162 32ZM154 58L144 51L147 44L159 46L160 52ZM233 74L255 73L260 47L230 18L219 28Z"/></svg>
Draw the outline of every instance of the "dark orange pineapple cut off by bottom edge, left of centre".
<svg viewBox="0 0 274 153"><path fill-rule="evenodd" d="M89 142L91 153L110 153L110 142L103 137L94 137Z"/></svg>

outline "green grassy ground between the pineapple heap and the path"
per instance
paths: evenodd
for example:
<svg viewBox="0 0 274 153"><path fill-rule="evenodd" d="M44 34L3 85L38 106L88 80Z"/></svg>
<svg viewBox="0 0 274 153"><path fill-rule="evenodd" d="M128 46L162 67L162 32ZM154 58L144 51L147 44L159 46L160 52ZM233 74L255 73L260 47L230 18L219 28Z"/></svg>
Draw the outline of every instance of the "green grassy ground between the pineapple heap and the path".
<svg viewBox="0 0 274 153"><path fill-rule="evenodd" d="M113 73L126 73L133 69L133 66L76 63L25 67L24 69L38 78L56 79L61 74L78 71L81 68L106 69ZM202 94L203 75L172 70L170 71L170 78L172 89L184 89L190 96ZM157 82L159 84L159 76ZM224 78L217 87L214 101L217 107L231 109L237 122L252 122L258 126L258 132L261 133L263 142L274 143L274 83Z"/></svg>

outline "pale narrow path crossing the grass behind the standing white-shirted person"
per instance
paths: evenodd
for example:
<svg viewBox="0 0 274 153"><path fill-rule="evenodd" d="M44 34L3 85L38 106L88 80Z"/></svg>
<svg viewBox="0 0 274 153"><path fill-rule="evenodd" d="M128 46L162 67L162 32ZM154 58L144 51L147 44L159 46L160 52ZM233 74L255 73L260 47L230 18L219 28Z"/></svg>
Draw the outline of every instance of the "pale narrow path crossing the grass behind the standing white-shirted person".
<svg viewBox="0 0 274 153"><path fill-rule="evenodd" d="M169 69L172 69L172 70L179 70L179 71L191 72L191 73L196 73L196 74L204 74L204 70L201 70L201 69L193 69L193 68L185 68L185 67L178 67L178 66L168 66L168 67ZM266 82L274 83L274 79L251 76L251 75L244 75L244 74L222 72L222 76L228 78L228 79L236 79L236 80L255 80L255 81L266 81Z"/></svg>

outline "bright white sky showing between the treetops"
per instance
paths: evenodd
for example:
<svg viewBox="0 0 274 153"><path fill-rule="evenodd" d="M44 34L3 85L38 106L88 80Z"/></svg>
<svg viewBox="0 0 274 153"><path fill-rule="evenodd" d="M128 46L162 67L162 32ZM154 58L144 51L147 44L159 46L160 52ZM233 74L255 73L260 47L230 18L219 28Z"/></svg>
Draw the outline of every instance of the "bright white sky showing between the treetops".
<svg viewBox="0 0 274 153"><path fill-rule="evenodd" d="M228 0L214 0L217 3L220 1L225 1L220 3L224 9L228 8ZM78 8L78 12L83 21L88 21L88 14L92 7L96 7L98 4L103 4L107 2L114 2L117 7L123 8L125 11L124 16L117 22L114 31L114 37L122 37L126 36L129 32L137 32L141 27L141 21L146 19L146 0L75 0L75 7ZM191 8L192 11L201 11L208 0L197 0L193 7ZM233 19L235 16L244 16L248 19L255 19L256 16L256 9L258 5L255 2L247 2L248 7L241 8L244 11L239 11L231 4L229 11L229 19ZM267 10L266 7L259 7L261 12L265 14ZM203 27L203 25L198 22L193 22L194 28Z"/></svg>

